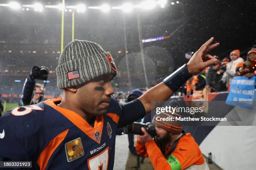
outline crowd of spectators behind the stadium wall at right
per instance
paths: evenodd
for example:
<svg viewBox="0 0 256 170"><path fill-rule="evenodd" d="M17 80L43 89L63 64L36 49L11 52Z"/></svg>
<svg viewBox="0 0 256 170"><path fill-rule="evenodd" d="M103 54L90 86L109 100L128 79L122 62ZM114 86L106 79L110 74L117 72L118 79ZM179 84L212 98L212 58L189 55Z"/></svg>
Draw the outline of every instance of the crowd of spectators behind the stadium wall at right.
<svg viewBox="0 0 256 170"><path fill-rule="evenodd" d="M219 58L218 56L215 56ZM184 95L193 95L197 100L205 92L221 92L230 90L230 81L234 76L251 78L256 75L256 47L248 51L246 60L241 57L240 50L233 50L229 57L206 67L200 74L191 77L183 86Z"/></svg>

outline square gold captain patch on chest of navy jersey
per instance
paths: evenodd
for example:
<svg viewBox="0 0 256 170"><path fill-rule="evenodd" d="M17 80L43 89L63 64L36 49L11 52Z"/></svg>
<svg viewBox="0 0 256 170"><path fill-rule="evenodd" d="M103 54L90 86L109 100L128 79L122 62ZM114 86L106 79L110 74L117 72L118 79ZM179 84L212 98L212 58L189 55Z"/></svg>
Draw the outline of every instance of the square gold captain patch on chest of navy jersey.
<svg viewBox="0 0 256 170"><path fill-rule="evenodd" d="M84 148L81 138L77 138L65 144L67 161L71 162L84 156Z"/></svg>

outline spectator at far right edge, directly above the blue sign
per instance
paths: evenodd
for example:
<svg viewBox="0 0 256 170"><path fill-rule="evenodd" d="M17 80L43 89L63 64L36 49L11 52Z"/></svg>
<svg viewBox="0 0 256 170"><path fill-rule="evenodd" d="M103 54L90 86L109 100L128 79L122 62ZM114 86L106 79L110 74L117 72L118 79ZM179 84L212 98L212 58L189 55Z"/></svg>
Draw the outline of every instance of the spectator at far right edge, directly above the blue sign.
<svg viewBox="0 0 256 170"><path fill-rule="evenodd" d="M240 62L236 68L236 75L244 75L251 78L256 75L256 47L253 47L247 55L245 62Z"/></svg>

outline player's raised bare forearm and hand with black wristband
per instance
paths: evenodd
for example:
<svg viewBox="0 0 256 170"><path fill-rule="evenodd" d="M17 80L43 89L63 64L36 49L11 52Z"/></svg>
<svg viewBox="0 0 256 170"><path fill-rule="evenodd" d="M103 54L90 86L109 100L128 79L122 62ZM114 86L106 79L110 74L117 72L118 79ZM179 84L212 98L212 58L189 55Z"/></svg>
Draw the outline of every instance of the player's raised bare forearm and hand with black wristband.
<svg viewBox="0 0 256 170"><path fill-rule="evenodd" d="M151 105L152 101L168 100L172 94L189 79L189 77L200 73L205 67L218 62L218 59L208 54L210 50L220 45L220 43L210 45L213 42L213 39L214 38L212 37L205 42L200 49L195 52L187 65L180 67L174 73L166 77L164 82L152 87L138 98L145 107L146 114L154 109Z"/></svg>

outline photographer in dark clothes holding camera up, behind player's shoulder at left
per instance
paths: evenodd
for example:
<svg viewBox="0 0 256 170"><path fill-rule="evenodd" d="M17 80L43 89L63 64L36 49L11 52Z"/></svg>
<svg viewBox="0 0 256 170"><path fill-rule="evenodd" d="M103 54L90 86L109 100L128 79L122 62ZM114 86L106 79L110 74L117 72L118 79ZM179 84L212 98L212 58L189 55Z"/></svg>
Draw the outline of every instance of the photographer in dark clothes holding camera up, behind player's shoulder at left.
<svg viewBox="0 0 256 170"><path fill-rule="evenodd" d="M23 85L19 106L37 104L43 100L44 87L42 87L40 84L36 84L35 79L46 81L48 74L49 70L45 66L34 66L31 69Z"/></svg>

